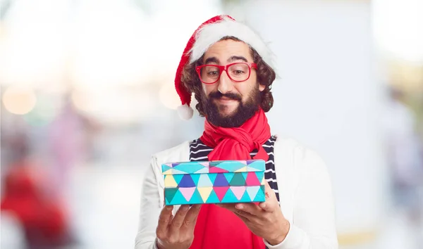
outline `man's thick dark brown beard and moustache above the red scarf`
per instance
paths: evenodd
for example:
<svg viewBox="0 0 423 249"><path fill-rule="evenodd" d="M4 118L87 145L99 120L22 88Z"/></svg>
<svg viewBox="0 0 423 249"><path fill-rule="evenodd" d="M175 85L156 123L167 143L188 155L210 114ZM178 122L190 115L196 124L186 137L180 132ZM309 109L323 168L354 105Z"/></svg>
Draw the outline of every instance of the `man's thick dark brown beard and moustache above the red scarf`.
<svg viewBox="0 0 423 249"><path fill-rule="evenodd" d="M252 89L249 95L247 101L243 103L239 94L221 94L220 91L213 91L206 97L204 96L204 91L202 91L202 103L207 120L216 127L240 127L259 110L259 103L261 102L259 87ZM219 100L222 97L238 101L239 103L238 107L228 115L221 114L221 111L226 106L219 107L215 103L215 100Z"/></svg>

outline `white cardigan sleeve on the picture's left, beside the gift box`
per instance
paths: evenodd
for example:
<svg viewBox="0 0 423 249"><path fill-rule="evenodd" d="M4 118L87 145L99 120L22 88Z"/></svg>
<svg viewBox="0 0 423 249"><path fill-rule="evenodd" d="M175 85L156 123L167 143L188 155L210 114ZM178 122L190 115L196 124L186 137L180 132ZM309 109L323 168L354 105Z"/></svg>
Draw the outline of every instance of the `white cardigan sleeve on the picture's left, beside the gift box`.
<svg viewBox="0 0 423 249"><path fill-rule="evenodd" d="M153 157L142 184L140 224L135 238L135 249L157 249L156 229L164 203L161 203L163 199L160 193L163 189L157 180L157 174L160 172L157 172L156 164Z"/></svg>

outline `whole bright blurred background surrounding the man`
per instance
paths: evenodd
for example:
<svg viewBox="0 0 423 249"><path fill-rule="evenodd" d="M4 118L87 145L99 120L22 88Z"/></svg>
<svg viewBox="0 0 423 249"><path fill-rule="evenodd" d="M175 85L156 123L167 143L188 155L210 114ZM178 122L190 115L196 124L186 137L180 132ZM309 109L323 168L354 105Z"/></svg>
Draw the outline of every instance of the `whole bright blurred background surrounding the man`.
<svg viewBox="0 0 423 249"><path fill-rule="evenodd" d="M133 248L150 156L202 134L173 78L221 13L269 41L272 133L326 161L340 248L423 248L422 0L0 0L1 248Z"/></svg>

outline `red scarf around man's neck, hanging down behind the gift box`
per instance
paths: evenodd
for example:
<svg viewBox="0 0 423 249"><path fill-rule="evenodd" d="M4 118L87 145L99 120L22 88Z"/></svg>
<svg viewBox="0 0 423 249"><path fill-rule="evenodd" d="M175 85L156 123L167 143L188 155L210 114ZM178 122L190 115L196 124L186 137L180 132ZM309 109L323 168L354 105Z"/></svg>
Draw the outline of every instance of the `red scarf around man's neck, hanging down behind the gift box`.
<svg viewBox="0 0 423 249"><path fill-rule="evenodd" d="M209 160L268 160L262 145L270 137L270 127L264 111L257 113L240 127L214 127L207 120L200 140L214 150ZM258 149L253 158L250 152ZM263 249L263 239L247 228L233 212L216 205L202 205L190 249Z"/></svg>

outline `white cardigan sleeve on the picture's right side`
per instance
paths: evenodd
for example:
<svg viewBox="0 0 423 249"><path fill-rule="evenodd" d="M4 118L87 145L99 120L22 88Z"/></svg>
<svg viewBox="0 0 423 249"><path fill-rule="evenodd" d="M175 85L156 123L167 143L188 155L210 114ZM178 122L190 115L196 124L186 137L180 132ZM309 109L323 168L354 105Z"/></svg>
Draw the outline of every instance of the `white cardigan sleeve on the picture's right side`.
<svg viewBox="0 0 423 249"><path fill-rule="evenodd" d="M331 180L324 161L316 152L305 150L296 167L300 178L288 235L278 245L264 243L269 249L338 248Z"/></svg>

